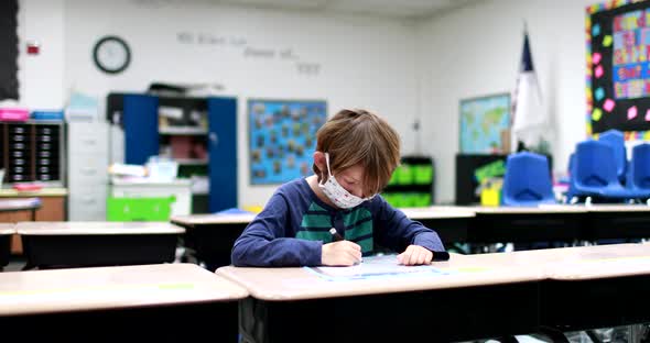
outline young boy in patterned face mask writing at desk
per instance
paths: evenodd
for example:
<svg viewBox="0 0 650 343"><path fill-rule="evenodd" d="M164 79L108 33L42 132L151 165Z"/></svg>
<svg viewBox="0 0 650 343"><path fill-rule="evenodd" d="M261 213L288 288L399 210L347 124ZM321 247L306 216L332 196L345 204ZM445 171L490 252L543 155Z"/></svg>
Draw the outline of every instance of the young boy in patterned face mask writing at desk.
<svg viewBox="0 0 650 343"><path fill-rule="evenodd" d="M400 162L400 139L383 119L343 110L316 140L315 175L275 191L235 242L235 266L350 266L375 243L401 252L403 265L449 258L435 232L378 195Z"/></svg>

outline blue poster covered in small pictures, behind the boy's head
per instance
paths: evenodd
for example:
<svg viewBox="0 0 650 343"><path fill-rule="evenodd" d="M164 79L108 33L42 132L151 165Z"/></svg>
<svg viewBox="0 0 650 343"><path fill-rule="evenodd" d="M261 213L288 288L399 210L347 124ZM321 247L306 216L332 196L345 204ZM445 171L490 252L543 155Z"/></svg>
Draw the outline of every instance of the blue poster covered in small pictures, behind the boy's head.
<svg viewBox="0 0 650 343"><path fill-rule="evenodd" d="M326 119L322 100L248 100L250 184L277 185L311 175L316 132Z"/></svg>

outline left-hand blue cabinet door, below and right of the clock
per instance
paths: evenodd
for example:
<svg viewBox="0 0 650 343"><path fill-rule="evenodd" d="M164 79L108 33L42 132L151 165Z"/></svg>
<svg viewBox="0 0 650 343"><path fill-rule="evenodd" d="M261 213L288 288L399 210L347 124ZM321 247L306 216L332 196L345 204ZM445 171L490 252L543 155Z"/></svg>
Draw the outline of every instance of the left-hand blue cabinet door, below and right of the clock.
<svg viewBox="0 0 650 343"><path fill-rule="evenodd" d="M124 162L143 165L159 154L158 97L124 96Z"/></svg>

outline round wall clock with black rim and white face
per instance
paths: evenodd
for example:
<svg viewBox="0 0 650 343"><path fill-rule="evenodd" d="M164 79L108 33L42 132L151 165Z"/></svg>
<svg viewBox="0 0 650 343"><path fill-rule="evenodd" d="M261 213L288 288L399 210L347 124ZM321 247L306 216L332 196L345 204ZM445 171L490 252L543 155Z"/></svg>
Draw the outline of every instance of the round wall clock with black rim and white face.
<svg viewBox="0 0 650 343"><path fill-rule="evenodd" d="M131 49L118 36L105 36L93 48L93 60L97 68L108 74L118 74L131 63Z"/></svg>

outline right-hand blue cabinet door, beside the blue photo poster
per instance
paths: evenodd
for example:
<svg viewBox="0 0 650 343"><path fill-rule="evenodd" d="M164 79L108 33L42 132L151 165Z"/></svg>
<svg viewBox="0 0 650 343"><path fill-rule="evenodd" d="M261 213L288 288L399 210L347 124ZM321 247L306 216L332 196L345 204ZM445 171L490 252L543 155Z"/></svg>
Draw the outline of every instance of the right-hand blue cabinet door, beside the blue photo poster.
<svg viewBox="0 0 650 343"><path fill-rule="evenodd" d="M208 98L209 211L237 207L237 99Z"/></svg>

